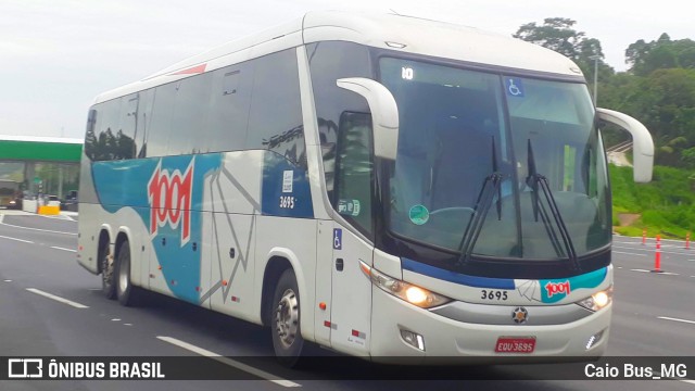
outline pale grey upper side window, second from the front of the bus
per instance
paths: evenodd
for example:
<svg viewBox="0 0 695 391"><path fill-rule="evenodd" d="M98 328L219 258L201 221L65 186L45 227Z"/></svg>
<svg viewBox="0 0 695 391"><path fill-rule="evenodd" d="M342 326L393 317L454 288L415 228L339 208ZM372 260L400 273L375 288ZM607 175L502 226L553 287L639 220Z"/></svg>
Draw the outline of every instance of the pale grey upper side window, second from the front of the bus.
<svg viewBox="0 0 695 391"><path fill-rule="evenodd" d="M213 72L213 94L205 137L210 152L239 151L247 148L247 125L253 87L253 67L249 63ZM205 150L205 149L204 149Z"/></svg>

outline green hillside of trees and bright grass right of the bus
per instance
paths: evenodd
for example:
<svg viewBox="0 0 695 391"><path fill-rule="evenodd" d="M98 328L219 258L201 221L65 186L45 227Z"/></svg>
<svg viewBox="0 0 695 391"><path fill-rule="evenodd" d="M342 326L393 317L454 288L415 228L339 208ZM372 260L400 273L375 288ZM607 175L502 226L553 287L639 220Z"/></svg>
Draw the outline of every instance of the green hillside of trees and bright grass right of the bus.
<svg viewBox="0 0 695 391"><path fill-rule="evenodd" d="M548 17L521 25L514 37L574 61L590 90L597 70L598 106L629 114L652 133L657 166L650 184L635 184L629 167L610 167L616 231L642 236L646 228L649 237L684 238L695 229L695 41L672 40L666 33L648 42L639 39L626 48L628 72L616 73L604 62L601 41L574 29L576 23ZM607 146L629 138L603 130ZM639 218L626 222L627 216Z"/></svg>

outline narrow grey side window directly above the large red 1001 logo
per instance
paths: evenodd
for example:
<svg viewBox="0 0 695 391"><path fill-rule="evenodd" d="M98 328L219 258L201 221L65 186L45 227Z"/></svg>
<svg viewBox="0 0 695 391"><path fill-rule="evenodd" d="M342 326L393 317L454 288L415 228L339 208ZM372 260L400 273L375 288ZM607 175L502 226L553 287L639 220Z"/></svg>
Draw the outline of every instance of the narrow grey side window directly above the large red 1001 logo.
<svg viewBox="0 0 695 391"><path fill-rule="evenodd" d="M169 83L156 88L152 118L148 121L146 154L148 157L166 154L177 87L178 83Z"/></svg>

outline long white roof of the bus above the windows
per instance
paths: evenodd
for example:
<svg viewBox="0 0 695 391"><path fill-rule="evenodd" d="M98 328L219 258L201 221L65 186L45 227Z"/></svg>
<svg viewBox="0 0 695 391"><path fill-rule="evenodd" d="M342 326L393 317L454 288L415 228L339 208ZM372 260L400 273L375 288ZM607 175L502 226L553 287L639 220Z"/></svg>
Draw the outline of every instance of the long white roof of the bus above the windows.
<svg viewBox="0 0 695 391"><path fill-rule="evenodd" d="M396 14L315 11L302 18L186 59L142 80L104 92L97 97L94 103L282 49L328 40L352 41L503 68L583 77L572 61L557 52L473 27Z"/></svg>

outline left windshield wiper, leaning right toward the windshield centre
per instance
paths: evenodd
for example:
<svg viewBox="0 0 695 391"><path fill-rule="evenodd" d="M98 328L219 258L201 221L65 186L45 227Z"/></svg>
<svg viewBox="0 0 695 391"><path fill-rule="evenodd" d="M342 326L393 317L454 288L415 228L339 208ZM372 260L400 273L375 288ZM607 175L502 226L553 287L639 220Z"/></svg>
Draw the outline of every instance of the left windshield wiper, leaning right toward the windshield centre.
<svg viewBox="0 0 695 391"><path fill-rule="evenodd" d="M473 216L468 222L464 237L462 238L459 250L460 256L456 261L457 267L463 267L470 260L470 255L473 251L473 245L480 237L480 231L485 223L488 211L492 206L492 201L497 195L496 210L497 220L502 220L502 179L503 175L500 173L497 165L497 153L495 152L495 138L492 137L492 174L488 175L483 180L482 188L478 193L478 200L473 207ZM491 186L492 185L492 186Z"/></svg>

